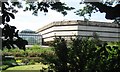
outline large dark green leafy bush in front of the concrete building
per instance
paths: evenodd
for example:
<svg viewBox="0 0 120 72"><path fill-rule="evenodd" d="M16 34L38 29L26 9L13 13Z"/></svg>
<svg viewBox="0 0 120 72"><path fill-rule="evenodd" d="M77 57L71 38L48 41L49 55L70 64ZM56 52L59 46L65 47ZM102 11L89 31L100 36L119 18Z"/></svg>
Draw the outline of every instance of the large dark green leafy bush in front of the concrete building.
<svg viewBox="0 0 120 72"><path fill-rule="evenodd" d="M120 71L119 43L109 45L92 38L71 39L70 46L64 38L54 41L56 60L49 69L57 72L110 72Z"/></svg>

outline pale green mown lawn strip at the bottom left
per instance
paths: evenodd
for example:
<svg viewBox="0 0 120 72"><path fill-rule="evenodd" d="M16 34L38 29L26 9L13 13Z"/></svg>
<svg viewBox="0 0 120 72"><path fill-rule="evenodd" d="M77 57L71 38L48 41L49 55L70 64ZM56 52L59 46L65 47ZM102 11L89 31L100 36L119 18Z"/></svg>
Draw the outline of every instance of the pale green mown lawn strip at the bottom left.
<svg viewBox="0 0 120 72"><path fill-rule="evenodd" d="M15 66L10 67L7 70L40 70L42 67L47 68L48 65L35 64L35 65L24 65L24 66Z"/></svg>

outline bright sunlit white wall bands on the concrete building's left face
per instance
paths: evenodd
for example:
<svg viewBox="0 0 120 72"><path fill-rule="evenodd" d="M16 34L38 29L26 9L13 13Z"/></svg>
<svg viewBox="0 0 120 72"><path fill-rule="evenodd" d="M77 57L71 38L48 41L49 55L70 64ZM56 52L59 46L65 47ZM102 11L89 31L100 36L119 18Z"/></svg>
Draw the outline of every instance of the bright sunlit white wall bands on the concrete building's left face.
<svg viewBox="0 0 120 72"><path fill-rule="evenodd" d="M73 30L73 31L72 31ZM78 26L52 26L40 32L44 41L53 40L54 36L78 35Z"/></svg>

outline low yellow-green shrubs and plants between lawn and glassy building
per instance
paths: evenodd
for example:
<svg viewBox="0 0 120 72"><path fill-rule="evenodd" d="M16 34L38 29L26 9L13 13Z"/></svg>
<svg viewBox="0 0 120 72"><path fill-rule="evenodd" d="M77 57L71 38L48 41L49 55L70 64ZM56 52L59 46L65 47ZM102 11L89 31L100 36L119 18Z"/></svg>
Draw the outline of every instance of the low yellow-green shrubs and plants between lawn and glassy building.
<svg viewBox="0 0 120 72"><path fill-rule="evenodd" d="M11 49L8 51L7 49L4 49L2 56L14 56L16 61L21 60L20 63L18 62L18 65L28 65L40 62L46 63L48 60L46 58L43 58L43 56L46 55L47 57L47 55L51 55L51 53L53 53L52 48L42 48L38 45L34 45L33 47L26 49L26 51L18 49ZM4 61L4 64L8 64L8 62L10 63L10 61Z"/></svg>

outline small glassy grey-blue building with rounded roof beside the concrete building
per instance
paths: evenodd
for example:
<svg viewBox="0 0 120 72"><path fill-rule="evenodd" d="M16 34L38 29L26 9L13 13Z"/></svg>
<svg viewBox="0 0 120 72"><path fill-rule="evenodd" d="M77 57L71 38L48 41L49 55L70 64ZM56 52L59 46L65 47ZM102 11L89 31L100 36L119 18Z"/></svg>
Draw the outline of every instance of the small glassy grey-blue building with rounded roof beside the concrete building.
<svg viewBox="0 0 120 72"><path fill-rule="evenodd" d="M28 41L28 45L41 45L42 36L35 31L26 29L18 33L19 37Z"/></svg>

